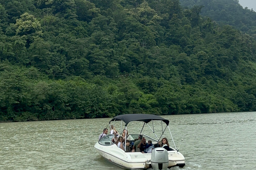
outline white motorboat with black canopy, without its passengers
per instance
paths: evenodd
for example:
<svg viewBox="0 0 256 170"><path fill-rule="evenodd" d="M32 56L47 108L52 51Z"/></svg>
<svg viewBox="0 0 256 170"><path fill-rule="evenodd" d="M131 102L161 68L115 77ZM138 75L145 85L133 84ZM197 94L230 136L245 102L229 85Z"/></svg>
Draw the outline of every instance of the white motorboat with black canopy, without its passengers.
<svg viewBox="0 0 256 170"><path fill-rule="evenodd" d="M122 121L121 122L121 129L122 129L122 123L125 123L125 129L127 128L127 125L129 122L132 121L141 121L144 122L144 125L148 125L149 122L152 121L152 128L148 125L148 127L152 130L152 132L155 134L154 131L154 124L153 122L161 121L162 125L162 131L161 134L165 132L165 130L168 128L170 132L170 136L172 138L174 148L170 147L170 151L167 151L161 147L157 147L156 149L152 150L152 153L141 153L141 152L125 152L125 150L122 150L121 148L117 147L115 143L113 143L112 139L114 135L106 135L103 138L101 138L94 147L98 151L98 153L108 160L109 162L112 162L116 164L119 167L122 167L124 169L147 169L153 167L153 169L167 169L173 166L179 166L183 167L185 166L185 158L184 156L179 152L179 149L176 149L170 128L169 128L169 121L156 115L147 115L147 114L126 114L126 115L119 115L111 119L109 122L109 126L111 122L115 121ZM163 128L163 123L166 125L165 128ZM144 125L141 129L141 132L144 128ZM111 126L110 126L111 129ZM112 130L112 129L111 129ZM140 132L140 133L141 133ZM129 134L132 137L131 138L138 138L138 134ZM129 137L128 135L128 137ZM158 138L157 135L156 139L153 137L149 137L147 134L143 134L144 137L147 138L147 140L152 140L153 144L157 144L162 135ZM126 139L124 140L126 141ZM132 143L132 140L131 140ZM153 152L154 151L154 152ZM166 158L166 161L161 161ZM153 161L154 160L154 161ZM152 162L151 162L152 161Z"/></svg>

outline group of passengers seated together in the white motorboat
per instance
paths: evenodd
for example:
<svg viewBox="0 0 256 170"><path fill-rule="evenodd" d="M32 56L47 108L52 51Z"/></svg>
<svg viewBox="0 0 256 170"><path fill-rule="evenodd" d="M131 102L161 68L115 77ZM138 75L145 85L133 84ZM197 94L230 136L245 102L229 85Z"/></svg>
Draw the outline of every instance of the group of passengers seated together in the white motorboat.
<svg viewBox="0 0 256 170"><path fill-rule="evenodd" d="M143 137L142 134L139 134L138 139L133 139L132 136L128 134L128 130L126 129L123 130L122 136L119 135L118 131L115 129L113 125L111 125L111 129L112 130L110 131L110 134L114 134L115 136L115 138L112 139L112 142L115 143L122 150L125 150L125 152L151 153L152 150L156 147L163 147L167 151L170 150L169 143L166 137L164 137L157 144L153 145L151 140L148 140L148 142L146 142L146 139L145 137ZM106 136L107 133L108 133L108 129L104 128L103 133L101 133L99 136L99 140L104 136ZM126 134L126 141L124 141L125 134ZM130 146L130 140L134 140L134 144L132 148ZM125 149L125 145L126 145L126 149Z"/></svg>

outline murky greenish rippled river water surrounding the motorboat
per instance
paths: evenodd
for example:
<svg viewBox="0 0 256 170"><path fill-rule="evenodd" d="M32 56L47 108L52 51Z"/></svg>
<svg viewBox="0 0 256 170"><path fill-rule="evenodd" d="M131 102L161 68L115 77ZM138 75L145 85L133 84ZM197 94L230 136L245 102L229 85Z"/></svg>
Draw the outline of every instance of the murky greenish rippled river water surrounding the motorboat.
<svg viewBox="0 0 256 170"><path fill-rule="evenodd" d="M170 121L176 147L183 138L179 151L186 158L186 166L171 170L255 169L256 112L163 117ZM0 169L119 170L93 147L109 120L1 123ZM127 128L132 134L140 132L142 126L132 122ZM116 127L120 132L120 122L116 122ZM154 128L162 130L157 122ZM154 137L150 132L148 127L143 130ZM166 137L170 140L168 133Z"/></svg>

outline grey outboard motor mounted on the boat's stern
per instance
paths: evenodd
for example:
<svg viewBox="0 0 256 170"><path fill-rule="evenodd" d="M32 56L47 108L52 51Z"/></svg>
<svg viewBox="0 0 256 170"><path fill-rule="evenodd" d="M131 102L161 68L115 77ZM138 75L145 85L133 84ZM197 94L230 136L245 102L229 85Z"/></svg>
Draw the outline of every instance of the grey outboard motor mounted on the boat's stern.
<svg viewBox="0 0 256 170"><path fill-rule="evenodd" d="M151 166L154 170L167 170L169 165L168 152L162 147L157 147L151 153Z"/></svg>

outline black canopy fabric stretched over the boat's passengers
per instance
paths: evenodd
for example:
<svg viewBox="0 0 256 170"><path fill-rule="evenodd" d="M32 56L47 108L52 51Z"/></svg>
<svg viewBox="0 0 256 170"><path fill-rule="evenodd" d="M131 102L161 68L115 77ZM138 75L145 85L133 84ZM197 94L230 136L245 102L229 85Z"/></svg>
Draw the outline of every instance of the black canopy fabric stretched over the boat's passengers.
<svg viewBox="0 0 256 170"><path fill-rule="evenodd" d="M126 114L126 115L119 115L114 117L112 121L123 121L126 125L132 121L141 121L145 123L149 123L152 120L159 120L163 121L166 125L169 125L169 121L156 115L147 115L147 114ZM110 124L109 122L109 124Z"/></svg>

